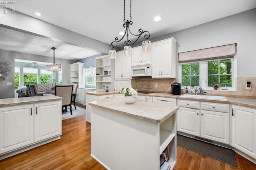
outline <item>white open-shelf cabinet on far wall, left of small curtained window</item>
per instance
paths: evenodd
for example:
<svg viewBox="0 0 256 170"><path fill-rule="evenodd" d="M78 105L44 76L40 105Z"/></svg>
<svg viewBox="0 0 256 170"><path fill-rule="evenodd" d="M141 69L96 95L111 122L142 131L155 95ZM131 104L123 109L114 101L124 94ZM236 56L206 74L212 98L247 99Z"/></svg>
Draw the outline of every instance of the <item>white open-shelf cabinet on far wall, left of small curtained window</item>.
<svg viewBox="0 0 256 170"><path fill-rule="evenodd" d="M82 73L84 63L70 64L70 84L78 84L78 87L82 87Z"/></svg>

